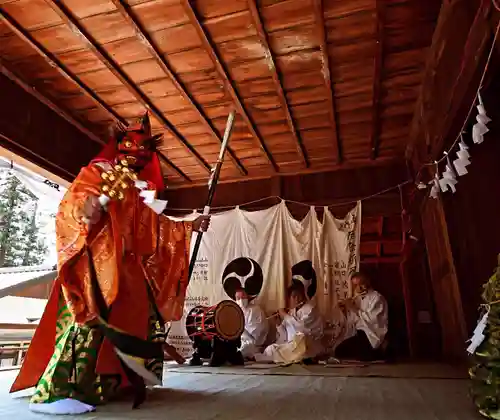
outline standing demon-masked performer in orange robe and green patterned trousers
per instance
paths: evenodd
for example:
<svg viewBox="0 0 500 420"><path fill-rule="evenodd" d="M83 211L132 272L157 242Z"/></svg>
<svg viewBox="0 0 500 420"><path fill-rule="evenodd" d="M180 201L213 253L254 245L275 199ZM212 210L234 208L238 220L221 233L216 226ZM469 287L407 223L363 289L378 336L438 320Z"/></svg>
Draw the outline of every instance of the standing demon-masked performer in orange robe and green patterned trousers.
<svg viewBox="0 0 500 420"><path fill-rule="evenodd" d="M91 411L127 389L138 406L161 383L164 325L182 316L191 233L209 219L161 215L159 141L147 114L120 130L59 206L59 275L11 389L36 386L33 411Z"/></svg>

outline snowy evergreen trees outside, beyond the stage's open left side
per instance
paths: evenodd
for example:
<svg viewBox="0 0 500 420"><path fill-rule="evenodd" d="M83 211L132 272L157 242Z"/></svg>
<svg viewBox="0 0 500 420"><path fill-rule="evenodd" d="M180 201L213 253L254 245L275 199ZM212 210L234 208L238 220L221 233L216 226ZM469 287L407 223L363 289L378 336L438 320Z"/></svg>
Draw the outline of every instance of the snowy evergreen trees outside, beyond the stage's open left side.
<svg viewBox="0 0 500 420"><path fill-rule="evenodd" d="M47 246L38 199L12 174L0 174L0 267L42 264Z"/></svg>

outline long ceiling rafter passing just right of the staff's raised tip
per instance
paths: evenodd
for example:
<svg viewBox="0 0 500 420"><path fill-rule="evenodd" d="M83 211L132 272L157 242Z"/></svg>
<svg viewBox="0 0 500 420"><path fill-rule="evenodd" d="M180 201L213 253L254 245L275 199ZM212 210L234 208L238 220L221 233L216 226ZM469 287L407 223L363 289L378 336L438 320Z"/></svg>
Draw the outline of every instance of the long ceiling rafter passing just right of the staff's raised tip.
<svg viewBox="0 0 500 420"><path fill-rule="evenodd" d="M235 89L231 79L229 78L228 72L225 69L224 65L222 64L222 61L220 60L218 54L215 52L215 48L212 44L212 41L210 40L209 35L207 34L205 28L200 23L200 20L198 19L196 11L194 10L194 7L191 5L190 0L183 0L182 4L184 6L184 10L189 18L190 23L194 26L196 32L198 33L198 35L203 43L205 51L210 56L210 59L212 60L214 66L217 70L217 73L222 78L222 81L224 83L224 88L231 96L231 98L234 102L234 105L236 107L236 110L238 111L238 113L241 115L241 117L245 121L245 124L247 125L248 130L250 131L252 136L258 140L260 148L262 149L262 151L266 155L267 160L272 165L275 172L279 172L279 167L276 164L276 161L274 160L274 158L273 158L271 152L269 151L268 147L266 146L264 140L262 139L260 134L257 132L255 124L252 122L245 107L243 106L243 103L242 103L238 93L236 92L236 89Z"/></svg>

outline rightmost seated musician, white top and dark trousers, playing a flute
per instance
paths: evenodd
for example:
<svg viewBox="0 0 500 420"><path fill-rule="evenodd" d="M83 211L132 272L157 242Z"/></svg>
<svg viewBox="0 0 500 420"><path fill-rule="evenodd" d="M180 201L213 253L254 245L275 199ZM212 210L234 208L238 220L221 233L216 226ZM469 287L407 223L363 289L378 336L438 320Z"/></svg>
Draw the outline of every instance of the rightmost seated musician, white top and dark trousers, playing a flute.
<svg viewBox="0 0 500 420"><path fill-rule="evenodd" d="M388 330L388 307L385 298L371 287L361 273L351 276L353 297L339 303L345 316L345 335L337 344L337 358L373 361L381 357Z"/></svg>

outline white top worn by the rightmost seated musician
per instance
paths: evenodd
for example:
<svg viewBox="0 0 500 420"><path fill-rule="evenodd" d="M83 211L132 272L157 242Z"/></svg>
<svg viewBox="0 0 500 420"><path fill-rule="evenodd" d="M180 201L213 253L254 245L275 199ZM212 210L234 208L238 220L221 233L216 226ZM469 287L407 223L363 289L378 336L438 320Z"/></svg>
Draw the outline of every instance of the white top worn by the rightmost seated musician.
<svg viewBox="0 0 500 420"><path fill-rule="evenodd" d="M344 328L338 337L335 347L342 341L354 337L356 331L364 331L374 349L380 347L388 328L388 307L385 298L376 290L369 290L354 299L358 310L347 311Z"/></svg>

